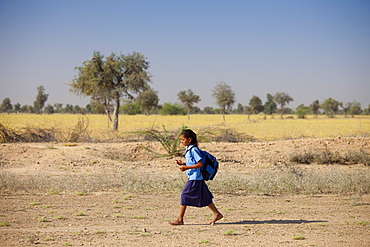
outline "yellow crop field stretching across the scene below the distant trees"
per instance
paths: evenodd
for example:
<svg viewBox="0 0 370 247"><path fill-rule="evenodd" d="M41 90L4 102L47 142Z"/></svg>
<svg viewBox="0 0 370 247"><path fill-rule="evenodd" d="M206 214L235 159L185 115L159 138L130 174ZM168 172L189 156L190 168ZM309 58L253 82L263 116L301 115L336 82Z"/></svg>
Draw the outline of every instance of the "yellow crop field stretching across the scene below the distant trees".
<svg viewBox="0 0 370 247"><path fill-rule="evenodd" d="M82 115L73 114L2 114L0 123L11 127L21 128L37 126L42 128L70 128L75 126ZM86 115L89 121L89 131L92 135L102 135L110 132L111 124L105 115ZM285 116L286 117L286 116ZM326 118L318 119L308 116L307 119L280 119L279 116L263 119L263 116L254 115L248 120L246 115L226 115L223 122L222 115L191 115L162 116L162 115L120 115L118 133L137 131L152 126L167 130L178 130L183 125L194 131L229 128L253 136L262 141L296 139L296 138L326 138L348 136L370 136L370 116L356 116L355 118Z"/></svg>

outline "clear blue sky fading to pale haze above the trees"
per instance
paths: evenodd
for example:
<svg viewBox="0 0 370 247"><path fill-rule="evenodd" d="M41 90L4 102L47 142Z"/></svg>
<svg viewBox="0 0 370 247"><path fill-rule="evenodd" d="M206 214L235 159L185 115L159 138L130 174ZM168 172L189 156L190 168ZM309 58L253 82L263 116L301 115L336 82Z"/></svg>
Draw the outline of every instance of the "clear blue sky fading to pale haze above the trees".
<svg viewBox="0 0 370 247"><path fill-rule="evenodd" d="M0 100L85 106L69 92L94 51L143 53L160 103L192 89L217 107L286 92L288 106L331 97L370 104L369 0L0 0Z"/></svg>

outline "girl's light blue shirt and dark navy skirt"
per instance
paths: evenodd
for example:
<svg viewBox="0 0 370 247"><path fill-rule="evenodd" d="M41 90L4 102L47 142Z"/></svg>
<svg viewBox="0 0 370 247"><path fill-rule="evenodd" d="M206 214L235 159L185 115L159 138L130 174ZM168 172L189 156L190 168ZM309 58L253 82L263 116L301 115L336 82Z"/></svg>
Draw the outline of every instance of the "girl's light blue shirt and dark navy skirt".
<svg viewBox="0 0 370 247"><path fill-rule="evenodd" d="M192 166L202 160L200 150L189 145L186 148L186 165ZM204 163L204 161L202 161ZM207 184L203 180L200 168L186 170L188 181L181 193L180 205L205 207L212 203L213 195L209 191Z"/></svg>

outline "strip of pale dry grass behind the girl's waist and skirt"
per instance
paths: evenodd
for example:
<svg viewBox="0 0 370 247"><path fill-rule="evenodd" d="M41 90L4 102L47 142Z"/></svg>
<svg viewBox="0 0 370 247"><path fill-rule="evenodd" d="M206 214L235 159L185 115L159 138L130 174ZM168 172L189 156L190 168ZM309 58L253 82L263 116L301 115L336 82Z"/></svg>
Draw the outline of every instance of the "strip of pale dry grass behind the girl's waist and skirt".
<svg viewBox="0 0 370 247"><path fill-rule="evenodd" d="M91 175L69 174L63 177L47 176L40 172L19 176L1 171L0 188L3 193L89 193L125 191L130 193L180 192L185 183L181 174L169 176L160 172L134 173L111 170ZM363 171L301 171L293 167L260 171L246 175L224 172L208 183L218 193L255 194L366 194L370 192L370 174Z"/></svg>

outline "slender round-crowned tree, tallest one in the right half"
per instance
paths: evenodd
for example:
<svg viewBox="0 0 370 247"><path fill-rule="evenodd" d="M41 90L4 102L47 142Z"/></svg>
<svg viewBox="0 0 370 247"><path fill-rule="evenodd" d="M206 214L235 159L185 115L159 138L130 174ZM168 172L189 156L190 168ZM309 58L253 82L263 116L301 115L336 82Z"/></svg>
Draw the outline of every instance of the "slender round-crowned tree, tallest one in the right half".
<svg viewBox="0 0 370 247"><path fill-rule="evenodd" d="M216 98L217 105L222 109L222 118L225 121L226 110L231 110L235 103L235 94L229 85L220 82L213 89L213 96Z"/></svg>

